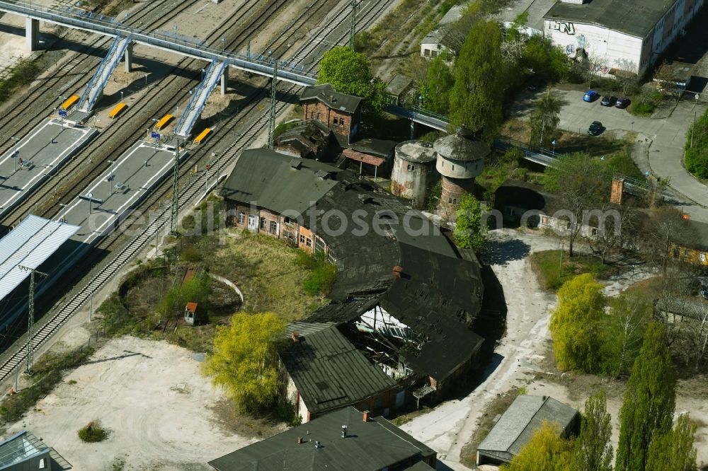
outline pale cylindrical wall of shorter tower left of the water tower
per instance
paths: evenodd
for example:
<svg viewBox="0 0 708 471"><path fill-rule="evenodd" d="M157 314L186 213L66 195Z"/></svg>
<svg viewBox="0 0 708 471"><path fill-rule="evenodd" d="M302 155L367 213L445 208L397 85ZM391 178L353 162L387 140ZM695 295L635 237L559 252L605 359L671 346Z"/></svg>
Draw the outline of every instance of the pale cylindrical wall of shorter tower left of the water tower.
<svg viewBox="0 0 708 471"><path fill-rule="evenodd" d="M414 163L396 156L391 173L391 192L410 199L414 208L422 209L439 178L440 175L435 171L435 161Z"/></svg>

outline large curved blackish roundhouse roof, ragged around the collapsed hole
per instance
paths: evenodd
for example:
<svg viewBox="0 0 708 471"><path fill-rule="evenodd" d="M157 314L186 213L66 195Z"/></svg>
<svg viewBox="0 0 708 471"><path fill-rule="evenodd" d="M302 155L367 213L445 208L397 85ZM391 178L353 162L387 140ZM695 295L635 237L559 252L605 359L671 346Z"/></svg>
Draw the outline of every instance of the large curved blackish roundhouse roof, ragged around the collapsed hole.
<svg viewBox="0 0 708 471"><path fill-rule="evenodd" d="M273 173L269 165L278 162L261 159L253 168ZM234 173L240 161L236 165ZM479 313L484 290L479 264L460 258L440 228L403 200L346 170L338 180L316 199L317 214L329 216L317 218L316 234L324 239L338 267L328 295L333 302L307 321L349 322L380 304L418 338L426 339L421 350L401 351L416 365L416 373L447 378L484 341L468 327ZM265 186L271 183L275 182L263 184L258 191L270 192ZM282 183L278 191L287 200L295 198L292 192L305 190ZM401 279L393 277L396 266L403 267Z"/></svg>

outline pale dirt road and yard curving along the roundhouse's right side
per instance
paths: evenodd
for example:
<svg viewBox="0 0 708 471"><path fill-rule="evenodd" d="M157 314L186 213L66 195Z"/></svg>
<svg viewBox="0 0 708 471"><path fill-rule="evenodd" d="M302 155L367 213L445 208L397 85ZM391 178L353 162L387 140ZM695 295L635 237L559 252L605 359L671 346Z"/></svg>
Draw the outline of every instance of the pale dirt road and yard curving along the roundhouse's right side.
<svg viewBox="0 0 708 471"><path fill-rule="evenodd" d="M495 357L482 373L486 376L484 382L474 391L467 397L444 402L428 414L415 417L401 429L437 450L442 464L450 469L467 470L460 463L462 447L472 438L486 407L498 394L523 387L528 394L550 395L581 409L588 395L603 388L607 389L607 409L615 427L612 441L616 449L617 414L622 405L624 385L607 382L598 376L564 374L561 377L561 373L554 370L548 325L556 296L539 287L527 255L559 249L559 240L539 233L501 229L489 233L488 246L492 250L487 250L482 259L491 264L503 287L508 308L506 336L499 342ZM616 295L646 276L646 273L627 272L607 283L605 292ZM551 369L553 371L549 371ZM679 390L686 389L679 387ZM698 463L708 463L708 401L698 393L695 397L680 394L676 399L676 411L689 411L699 424L696 436Z"/></svg>

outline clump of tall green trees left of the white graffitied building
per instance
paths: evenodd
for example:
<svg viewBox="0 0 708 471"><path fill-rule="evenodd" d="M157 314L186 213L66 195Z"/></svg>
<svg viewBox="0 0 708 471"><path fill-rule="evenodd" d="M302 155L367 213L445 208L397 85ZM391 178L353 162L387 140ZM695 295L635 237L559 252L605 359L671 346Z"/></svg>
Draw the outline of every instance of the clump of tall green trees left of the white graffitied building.
<svg viewBox="0 0 708 471"><path fill-rule="evenodd" d="M474 2L451 27L447 37L459 43L457 58L443 53L432 59L420 88L426 108L450 115L453 127L465 124L486 141L496 137L503 121L505 91L528 76L555 81L570 70L566 54L550 40L521 32L525 18L503 32L486 18L489 8Z"/></svg>

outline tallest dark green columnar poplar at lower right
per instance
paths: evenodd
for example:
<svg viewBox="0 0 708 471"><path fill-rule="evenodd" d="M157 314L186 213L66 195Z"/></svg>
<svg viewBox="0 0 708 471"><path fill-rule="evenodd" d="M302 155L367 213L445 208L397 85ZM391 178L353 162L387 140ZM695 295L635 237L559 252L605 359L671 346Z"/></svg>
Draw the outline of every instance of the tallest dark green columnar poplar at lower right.
<svg viewBox="0 0 708 471"><path fill-rule="evenodd" d="M619 410L617 471L650 469L646 466L649 448L654 439L670 431L675 400L676 372L666 330L663 325L651 322Z"/></svg>

